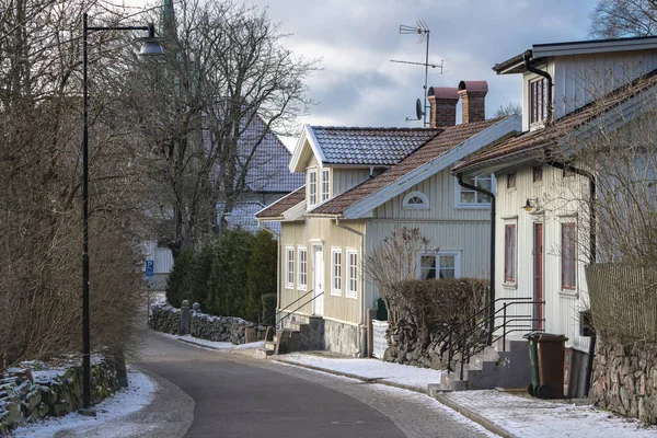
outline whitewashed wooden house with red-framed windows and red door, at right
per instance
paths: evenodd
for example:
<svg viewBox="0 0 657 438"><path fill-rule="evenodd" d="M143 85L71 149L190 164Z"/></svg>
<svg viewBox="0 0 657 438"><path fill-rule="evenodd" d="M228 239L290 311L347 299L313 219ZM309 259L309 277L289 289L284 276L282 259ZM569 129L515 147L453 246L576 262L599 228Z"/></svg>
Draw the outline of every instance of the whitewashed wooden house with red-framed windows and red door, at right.
<svg viewBox="0 0 657 438"><path fill-rule="evenodd" d="M600 119L618 129L642 111L639 94L657 83L657 37L540 44L493 70L521 74L523 132L454 173L495 174L497 309L504 299L544 301L518 307L544 321L516 335L540 328L567 336L569 392L583 395L589 337L580 335L579 312L589 307L584 266L591 252L581 249L595 254L600 230L575 199L595 194L596 175L563 151L577 150L576 139Z"/></svg>

